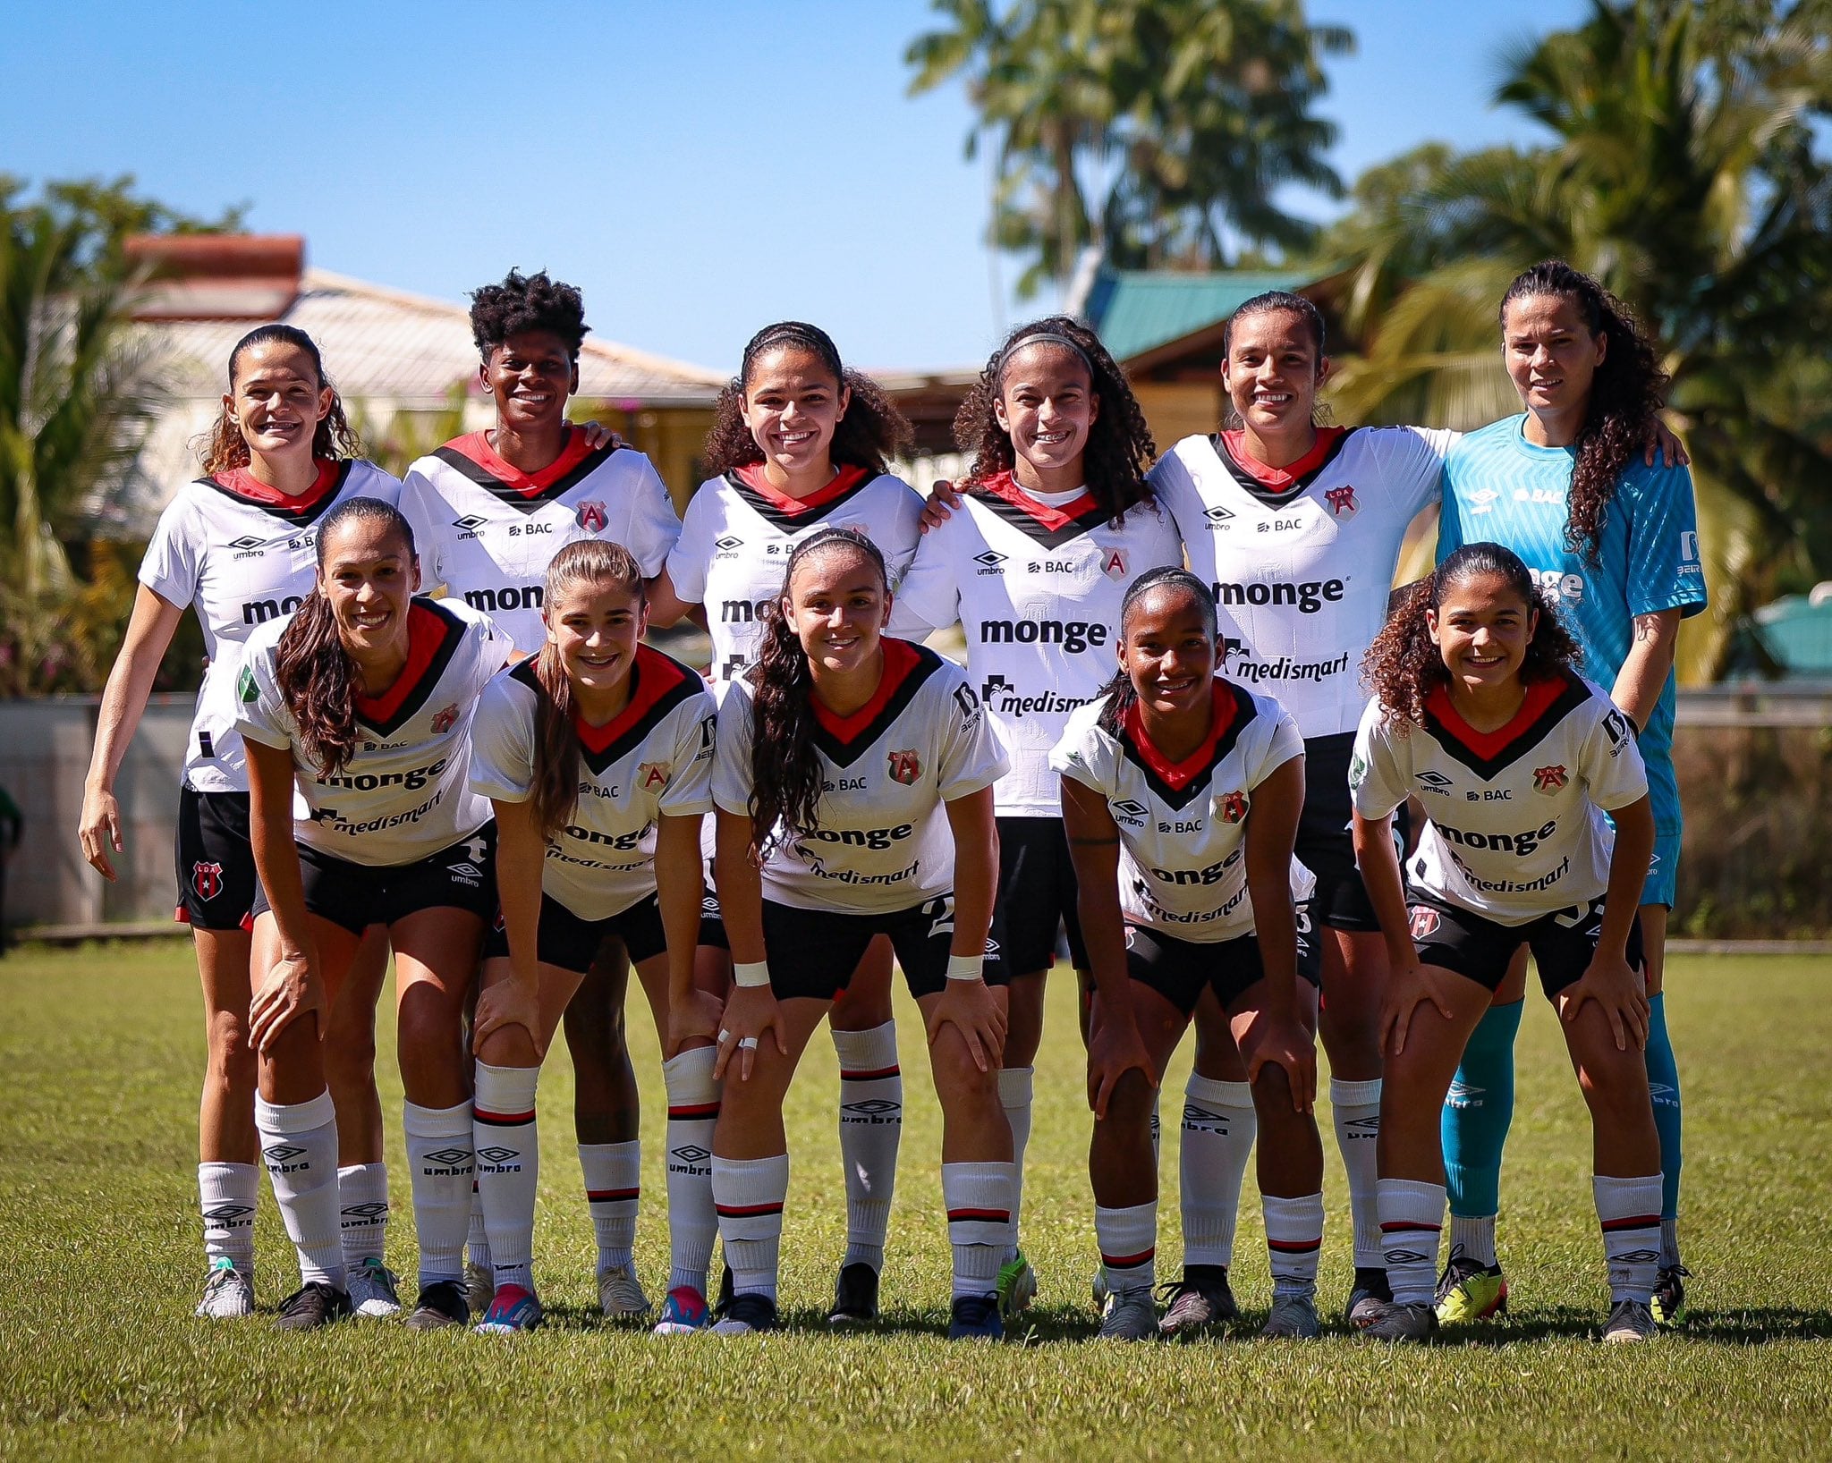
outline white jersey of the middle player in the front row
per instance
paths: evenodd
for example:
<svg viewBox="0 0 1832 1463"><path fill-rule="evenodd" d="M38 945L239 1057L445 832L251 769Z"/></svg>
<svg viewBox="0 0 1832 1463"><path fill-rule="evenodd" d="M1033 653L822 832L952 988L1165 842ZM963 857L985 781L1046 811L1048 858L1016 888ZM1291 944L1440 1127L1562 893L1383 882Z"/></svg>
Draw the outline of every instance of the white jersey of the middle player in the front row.
<svg viewBox="0 0 1832 1463"><path fill-rule="evenodd" d="M954 833L942 804L991 787L1006 754L967 672L927 646L883 639L885 677L852 716L815 703L819 828L782 839L764 897L804 910L907 910L954 888ZM718 709L713 798L751 813L755 690L733 681Z"/></svg>

